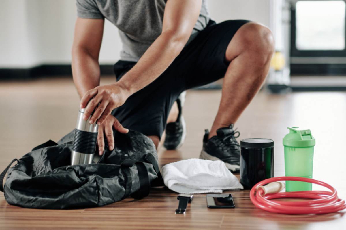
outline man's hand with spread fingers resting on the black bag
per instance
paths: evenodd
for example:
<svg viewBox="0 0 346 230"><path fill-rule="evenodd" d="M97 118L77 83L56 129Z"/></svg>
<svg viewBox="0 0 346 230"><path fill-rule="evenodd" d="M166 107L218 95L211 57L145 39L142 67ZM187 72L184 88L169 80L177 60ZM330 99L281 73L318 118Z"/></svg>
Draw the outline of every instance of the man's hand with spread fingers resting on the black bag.
<svg viewBox="0 0 346 230"><path fill-rule="evenodd" d="M128 129L122 127L122 125L113 115L108 116L106 120L99 126L99 133L97 135L97 145L99 147L100 155L102 155L104 150L104 136L106 136L107 138L109 150L114 149L114 136L112 127L114 127L115 130L121 133L128 133L129 131Z"/></svg>

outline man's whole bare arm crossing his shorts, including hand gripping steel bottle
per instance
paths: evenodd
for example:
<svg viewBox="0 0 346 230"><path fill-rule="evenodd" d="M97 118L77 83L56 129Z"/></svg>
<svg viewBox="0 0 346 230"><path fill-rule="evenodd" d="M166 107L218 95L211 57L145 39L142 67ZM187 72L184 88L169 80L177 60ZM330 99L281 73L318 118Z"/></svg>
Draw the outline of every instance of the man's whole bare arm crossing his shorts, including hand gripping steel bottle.
<svg viewBox="0 0 346 230"><path fill-rule="evenodd" d="M93 123L99 119L98 123L102 123L110 112L124 104L131 94L160 76L188 41L199 17L201 4L202 0L168 0L164 12L162 33L138 63L117 83L99 86L84 94L81 108L86 107L85 119L101 102L90 122Z"/></svg>

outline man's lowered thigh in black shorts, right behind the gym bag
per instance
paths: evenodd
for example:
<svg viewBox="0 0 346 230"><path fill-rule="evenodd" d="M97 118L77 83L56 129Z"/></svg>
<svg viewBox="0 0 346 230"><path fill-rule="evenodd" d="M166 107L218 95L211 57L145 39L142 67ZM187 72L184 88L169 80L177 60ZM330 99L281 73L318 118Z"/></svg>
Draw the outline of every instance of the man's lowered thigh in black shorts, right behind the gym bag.
<svg viewBox="0 0 346 230"><path fill-rule="evenodd" d="M125 63L127 68L122 72L115 70L118 80L130 69L130 63L121 62ZM112 114L125 128L161 139L169 111L184 89L185 84L181 79L165 72L148 86L131 95L122 106L113 110Z"/></svg>

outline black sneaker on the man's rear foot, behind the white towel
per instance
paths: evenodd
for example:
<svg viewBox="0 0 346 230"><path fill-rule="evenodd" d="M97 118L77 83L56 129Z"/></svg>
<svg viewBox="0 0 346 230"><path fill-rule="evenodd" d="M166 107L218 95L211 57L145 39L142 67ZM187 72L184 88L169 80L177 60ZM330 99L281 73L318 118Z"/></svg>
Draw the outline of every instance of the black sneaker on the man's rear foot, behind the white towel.
<svg viewBox="0 0 346 230"><path fill-rule="evenodd" d="M166 124L166 138L163 146L166 149L178 149L180 148L186 137L186 125L182 114L182 100L179 97L176 100L178 104L179 114L176 122Z"/></svg>

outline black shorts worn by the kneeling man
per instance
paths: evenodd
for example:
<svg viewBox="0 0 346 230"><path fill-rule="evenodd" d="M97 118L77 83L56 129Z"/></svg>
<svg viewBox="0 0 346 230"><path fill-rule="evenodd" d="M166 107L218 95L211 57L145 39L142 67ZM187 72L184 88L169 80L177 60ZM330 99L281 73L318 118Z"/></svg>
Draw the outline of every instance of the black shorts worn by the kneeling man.
<svg viewBox="0 0 346 230"><path fill-rule="evenodd" d="M225 60L227 46L247 22L229 20L216 24L210 20L160 77L131 95L112 114L125 128L161 138L170 109L180 93L224 77L229 64ZM114 65L117 80L135 64L118 61Z"/></svg>

